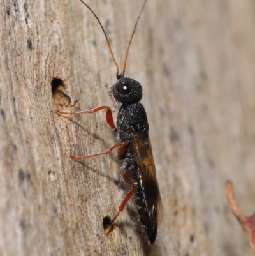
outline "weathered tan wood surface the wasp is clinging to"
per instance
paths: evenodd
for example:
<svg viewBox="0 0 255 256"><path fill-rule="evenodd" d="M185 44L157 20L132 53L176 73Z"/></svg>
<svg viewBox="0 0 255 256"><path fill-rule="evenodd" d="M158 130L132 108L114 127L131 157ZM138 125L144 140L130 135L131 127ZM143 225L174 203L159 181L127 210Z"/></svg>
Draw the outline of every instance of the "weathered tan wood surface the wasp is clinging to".
<svg viewBox="0 0 255 256"><path fill-rule="evenodd" d="M87 1L120 68L142 1ZM126 75L143 86L164 221L147 245L133 203L106 238L127 188L114 154L73 162L114 143L104 113L115 66L96 19L78 1L0 4L0 254L251 255L224 193L253 213L254 3L149 0ZM52 97L52 80L54 97ZM58 87L57 87L58 86ZM57 87L57 89L56 89Z"/></svg>

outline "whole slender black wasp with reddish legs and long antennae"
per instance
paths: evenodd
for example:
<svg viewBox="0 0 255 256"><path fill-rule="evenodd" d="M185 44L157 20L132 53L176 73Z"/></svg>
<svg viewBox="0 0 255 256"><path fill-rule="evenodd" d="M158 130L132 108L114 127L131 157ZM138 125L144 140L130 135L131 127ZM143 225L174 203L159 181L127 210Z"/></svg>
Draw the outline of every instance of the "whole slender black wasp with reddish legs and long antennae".
<svg viewBox="0 0 255 256"><path fill-rule="evenodd" d="M94 11L92 11L84 1L80 1L89 8L94 17L98 20L101 29L103 29L110 54L112 55L115 66L117 67L117 82L112 86L110 95L113 96L116 102L119 102L122 105L120 106L117 114L117 126L115 126L113 121L112 110L108 106L96 107L95 109L80 112L61 112L58 110L56 112L58 114L93 114L99 110L106 110L106 121L109 126L117 132L117 144L110 147L103 153L91 154L89 156L79 158L71 156L71 158L75 161L84 160L85 158L91 158L93 156L109 154L113 149L119 147L117 157L119 160L124 160L121 167L123 170L122 178L126 183L131 184L133 187L120 204L119 211L112 220L110 220L109 225L115 222L117 217L124 210L128 201L133 197L133 195L135 195L136 210L138 212L140 222L145 229L150 244L154 245L157 237L157 227L163 219L163 207L156 179L152 146L149 139L149 124L145 109L140 103L140 100L142 99L141 84L134 79L124 76L129 47L138 24L138 20L140 19L140 15L142 14L147 0L144 1L142 10L136 20L135 28L133 29L126 52L123 72L120 74L119 66L113 56L105 29Z"/></svg>

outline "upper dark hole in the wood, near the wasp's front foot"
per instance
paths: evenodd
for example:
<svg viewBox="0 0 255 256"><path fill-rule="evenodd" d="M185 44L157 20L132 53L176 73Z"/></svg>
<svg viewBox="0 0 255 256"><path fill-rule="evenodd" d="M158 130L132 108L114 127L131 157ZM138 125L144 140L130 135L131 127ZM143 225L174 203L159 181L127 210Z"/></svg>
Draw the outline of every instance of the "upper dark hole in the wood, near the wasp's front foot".
<svg viewBox="0 0 255 256"><path fill-rule="evenodd" d="M64 82L58 77L52 79L52 97L59 109L68 108L71 105L71 98L66 94Z"/></svg>

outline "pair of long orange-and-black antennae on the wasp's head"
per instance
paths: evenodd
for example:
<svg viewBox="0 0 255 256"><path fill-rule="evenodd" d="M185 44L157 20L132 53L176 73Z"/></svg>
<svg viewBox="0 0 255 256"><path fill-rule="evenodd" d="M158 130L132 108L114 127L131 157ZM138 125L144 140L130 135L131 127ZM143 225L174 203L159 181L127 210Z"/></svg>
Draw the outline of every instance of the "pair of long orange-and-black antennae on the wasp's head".
<svg viewBox="0 0 255 256"><path fill-rule="evenodd" d="M119 80L120 78L124 77L124 75L125 75L126 66L127 66L127 61L128 61L129 48L130 48L130 45L131 45L133 36L134 36L134 34L135 34L135 30L136 30L136 26L137 26L137 24L138 24L138 20L140 19L140 16L141 16L141 14L142 14L142 11L143 11L143 9L144 9L144 6L145 6L147 0L144 1L143 6L142 6L142 10L140 11L140 13L139 13L139 15L138 15L138 18L137 18L137 20L136 20L136 24L135 24L135 27L134 27L134 29L133 29L133 33L132 33L131 38L130 38L130 40L129 40L128 49L127 49L127 51L126 51L126 57L125 57L124 66L123 66L123 72L120 73L120 74L119 74L119 66L118 66L117 62L115 61L115 57L113 56L113 52L112 52L112 48L111 48L111 45L110 45L110 41L108 40L108 37L107 37L107 35L106 35L106 33L105 33L105 29L103 28L103 25L101 24L100 20L98 19L98 16L96 15L96 13L94 13L94 11L93 11L83 0L80 0L80 1L93 13L94 17L96 17L96 19L98 20L99 25L101 26L101 29L103 30L103 33L105 34L105 38L106 38L106 41L107 41L107 44L108 44L108 48L109 48L110 53L111 53L111 55L112 55L113 62L114 62L114 64L115 64L116 68L117 68L116 77L117 77L117 79Z"/></svg>

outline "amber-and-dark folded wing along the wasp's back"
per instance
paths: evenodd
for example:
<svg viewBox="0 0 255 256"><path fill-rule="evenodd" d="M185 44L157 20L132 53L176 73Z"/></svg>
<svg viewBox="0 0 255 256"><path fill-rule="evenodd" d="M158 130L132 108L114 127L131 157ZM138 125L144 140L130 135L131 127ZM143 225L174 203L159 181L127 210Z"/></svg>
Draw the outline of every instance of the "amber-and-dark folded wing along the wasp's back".
<svg viewBox="0 0 255 256"><path fill-rule="evenodd" d="M140 186L143 190L147 212L154 225L160 225L163 220L163 206L156 179L156 169L152 155L150 139L144 142L133 132L133 145L136 162L140 169Z"/></svg>

